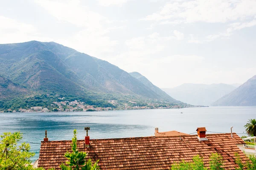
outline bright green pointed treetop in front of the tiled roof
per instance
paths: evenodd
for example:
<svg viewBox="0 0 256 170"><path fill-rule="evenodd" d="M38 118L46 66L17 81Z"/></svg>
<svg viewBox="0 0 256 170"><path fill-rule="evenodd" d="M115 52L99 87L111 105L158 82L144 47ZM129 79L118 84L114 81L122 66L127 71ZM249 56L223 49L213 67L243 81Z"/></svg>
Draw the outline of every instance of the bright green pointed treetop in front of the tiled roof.
<svg viewBox="0 0 256 170"><path fill-rule="evenodd" d="M92 165L91 159L85 161L86 156L88 155L86 152L79 152L77 148L77 139L76 139L76 129L74 130L74 137L72 138L72 153L65 153L65 157L68 159L66 164L61 164L62 170L99 170L98 161L96 161Z"/></svg>

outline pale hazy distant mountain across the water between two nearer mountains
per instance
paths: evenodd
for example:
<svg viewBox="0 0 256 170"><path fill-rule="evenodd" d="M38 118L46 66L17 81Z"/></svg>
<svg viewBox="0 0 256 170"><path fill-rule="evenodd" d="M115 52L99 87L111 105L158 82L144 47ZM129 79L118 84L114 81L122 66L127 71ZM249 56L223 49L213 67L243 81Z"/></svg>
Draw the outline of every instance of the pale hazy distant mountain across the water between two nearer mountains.
<svg viewBox="0 0 256 170"><path fill-rule="evenodd" d="M209 106L236 87L227 84L192 84L186 83L175 88L162 88L170 96L191 105Z"/></svg>

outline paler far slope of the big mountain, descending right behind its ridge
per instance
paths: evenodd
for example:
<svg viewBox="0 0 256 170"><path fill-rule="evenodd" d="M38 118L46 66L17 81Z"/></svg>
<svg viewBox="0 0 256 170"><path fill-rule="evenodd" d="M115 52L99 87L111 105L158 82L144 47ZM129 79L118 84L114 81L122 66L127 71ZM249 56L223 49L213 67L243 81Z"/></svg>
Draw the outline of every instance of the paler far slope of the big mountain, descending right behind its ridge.
<svg viewBox="0 0 256 170"><path fill-rule="evenodd" d="M111 93L136 94L153 99L162 99L161 95L152 91L126 71L107 61L79 53L72 48L64 47L55 42L44 42L44 44L64 60L89 85L104 88Z"/></svg>

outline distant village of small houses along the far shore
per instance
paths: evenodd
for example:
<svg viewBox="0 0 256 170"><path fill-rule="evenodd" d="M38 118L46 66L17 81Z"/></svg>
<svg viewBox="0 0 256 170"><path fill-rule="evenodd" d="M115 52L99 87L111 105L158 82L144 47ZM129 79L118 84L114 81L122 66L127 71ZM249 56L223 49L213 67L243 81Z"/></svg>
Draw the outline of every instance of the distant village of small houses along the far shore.
<svg viewBox="0 0 256 170"><path fill-rule="evenodd" d="M59 97L61 102L52 102L49 107L34 106L31 108L20 108L19 110L8 109L6 112L74 112L74 111L112 111L112 110L134 110L134 109L170 109L170 108L186 108L186 107L199 107L199 106L187 106L187 105L161 105L157 103L147 103L146 106L139 106L137 102L129 101L128 103L120 104L116 100L108 100L113 108L96 107L95 105L87 105L79 100L67 101L65 97Z"/></svg>

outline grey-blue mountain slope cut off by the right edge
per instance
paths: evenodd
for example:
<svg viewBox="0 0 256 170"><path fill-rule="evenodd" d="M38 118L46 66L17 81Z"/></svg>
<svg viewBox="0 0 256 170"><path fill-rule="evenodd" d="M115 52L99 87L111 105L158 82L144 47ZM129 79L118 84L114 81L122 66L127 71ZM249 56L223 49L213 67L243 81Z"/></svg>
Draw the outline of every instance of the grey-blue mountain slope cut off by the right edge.
<svg viewBox="0 0 256 170"><path fill-rule="evenodd" d="M221 97L215 106L256 106L256 75L231 93Z"/></svg>

